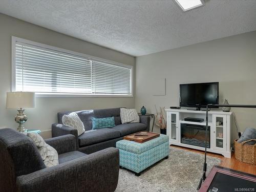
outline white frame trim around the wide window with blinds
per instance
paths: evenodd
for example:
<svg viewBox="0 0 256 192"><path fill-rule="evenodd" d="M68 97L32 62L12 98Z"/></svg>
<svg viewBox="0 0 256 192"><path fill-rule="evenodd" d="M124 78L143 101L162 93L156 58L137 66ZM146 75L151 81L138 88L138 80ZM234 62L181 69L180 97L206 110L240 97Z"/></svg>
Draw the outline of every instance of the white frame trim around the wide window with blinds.
<svg viewBox="0 0 256 192"><path fill-rule="evenodd" d="M130 77L130 83L131 83L131 95L130 94L88 94L88 93L36 93L36 97L133 97L133 90L134 90L134 67L130 65L125 65L123 63L107 60L107 59L102 59L99 57L94 57L91 55L75 52L75 51L70 51L67 49L62 49L54 46L49 46L46 44L41 44L39 42L19 38L12 36L11 38L11 91L16 91L16 60L15 60L15 48L16 48L16 41L23 42L25 44L30 44L32 46L38 46L46 49L52 49L53 51L60 51L63 53L67 54L72 54L76 56L80 56L86 59L90 60L96 60L96 61L103 61L106 63L113 63L113 65L117 66L123 66L123 67L129 67L131 68L131 77Z"/></svg>

